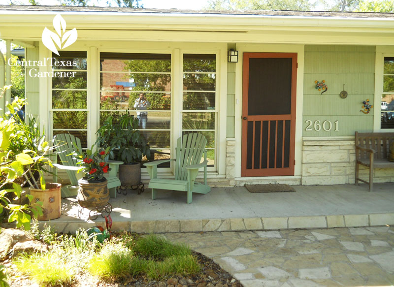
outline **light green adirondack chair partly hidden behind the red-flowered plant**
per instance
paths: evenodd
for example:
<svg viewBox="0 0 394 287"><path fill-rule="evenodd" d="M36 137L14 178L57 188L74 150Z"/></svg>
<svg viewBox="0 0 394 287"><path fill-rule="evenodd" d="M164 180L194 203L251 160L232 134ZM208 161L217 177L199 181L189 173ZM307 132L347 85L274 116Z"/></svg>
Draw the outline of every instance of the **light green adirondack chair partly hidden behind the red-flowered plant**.
<svg viewBox="0 0 394 287"><path fill-rule="evenodd" d="M62 197L77 195L78 180L83 177L82 172L77 173L79 165L77 165L77 160L74 159L73 155L71 155L75 150L73 143L75 143L78 149L82 151L81 140L79 138L68 133L59 133L54 137L54 144L58 146L57 154L63 164L54 163L53 165L56 168L66 170L71 183L71 185L62 187ZM119 165L123 164L123 161L108 160L108 163L111 170L105 175L105 178L107 179L107 187L110 197L116 197L116 187L121 185L117 174Z"/></svg>

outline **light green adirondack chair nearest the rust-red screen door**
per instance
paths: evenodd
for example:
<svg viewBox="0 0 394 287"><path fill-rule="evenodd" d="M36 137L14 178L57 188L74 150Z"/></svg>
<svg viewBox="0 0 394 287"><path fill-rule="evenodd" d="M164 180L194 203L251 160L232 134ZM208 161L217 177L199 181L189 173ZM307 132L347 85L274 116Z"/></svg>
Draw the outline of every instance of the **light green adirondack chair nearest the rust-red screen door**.
<svg viewBox="0 0 394 287"><path fill-rule="evenodd" d="M152 189L152 199L156 199L157 189L186 191L188 193L188 204L192 203L193 192L208 193L211 188L206 184L206 138L200 133L189 133L178 138L176 159L156 160L144 163L149 176L149 188ZM200 163L202 153L204 161ZM157 178L157 166L163 162L175 161L175 179ZM195 182L198 169L204 168L204 184Z"/></svg>

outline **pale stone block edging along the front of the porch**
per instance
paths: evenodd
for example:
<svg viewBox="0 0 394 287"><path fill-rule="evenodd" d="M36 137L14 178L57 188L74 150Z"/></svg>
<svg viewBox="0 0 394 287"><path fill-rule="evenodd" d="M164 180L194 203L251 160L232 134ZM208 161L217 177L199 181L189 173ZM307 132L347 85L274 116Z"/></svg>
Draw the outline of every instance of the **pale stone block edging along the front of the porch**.
<svg viewBox="0 0 394 287"><path fill-rule="evenodd" d="M78 228L90 228L102 224L101 220L93 222L47 222L56 232L74 233ZM42 228L45 222L39 222ZM114 221L113 231L127 230L136 233L170 233L170 232L211 232L211 231L252 231L278 229L310 229L334 227L368 227L394 224L394 213L321 215L290 217L256 217L230 219L191 219L191 220L157 220L157 221ZM4 224L3 227L11 224Z"/></svg>

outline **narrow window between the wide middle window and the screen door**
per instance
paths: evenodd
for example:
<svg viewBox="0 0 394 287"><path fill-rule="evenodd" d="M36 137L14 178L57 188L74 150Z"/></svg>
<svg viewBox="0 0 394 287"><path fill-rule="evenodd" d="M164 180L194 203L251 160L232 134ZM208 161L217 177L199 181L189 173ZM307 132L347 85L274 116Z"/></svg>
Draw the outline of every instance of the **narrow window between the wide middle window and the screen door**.
<svg viewBox="0 0 394 287"><path fill-rule="evenodd" d="M183 54L182 133L199 132L208 140L208 166L216 166L216 55Z"/></svg>

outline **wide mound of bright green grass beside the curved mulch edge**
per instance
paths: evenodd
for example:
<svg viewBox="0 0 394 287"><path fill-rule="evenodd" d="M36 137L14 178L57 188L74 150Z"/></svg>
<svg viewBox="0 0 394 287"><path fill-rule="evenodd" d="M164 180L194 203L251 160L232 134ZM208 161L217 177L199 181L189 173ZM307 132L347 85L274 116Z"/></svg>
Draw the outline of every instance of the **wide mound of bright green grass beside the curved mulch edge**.
<svg viewBox="0 0 394 287"><path fill-rule="evenodd" d="M201 266L186 245L174 245L154 235L137 240L124 235L122 241L105 244L91 258L89 271L111 282L138 275L162 280L174 275L197 274Z"/></svg>

